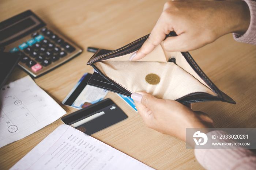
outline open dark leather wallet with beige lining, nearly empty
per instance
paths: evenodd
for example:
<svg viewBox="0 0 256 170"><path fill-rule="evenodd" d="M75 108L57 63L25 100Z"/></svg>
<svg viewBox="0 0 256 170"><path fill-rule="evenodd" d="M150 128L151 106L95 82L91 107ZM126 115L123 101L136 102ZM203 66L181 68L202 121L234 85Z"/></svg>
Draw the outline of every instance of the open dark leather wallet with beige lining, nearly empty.
<svg viewBox="0 0 256 170"><path fill-rule="evenodd" d="M88 85L128 97L143 91L182 104L199 101L236 104L212 83L188 52L168 52L162 48L161 43L146 57L129 61L148 36L114 51L99 49L87 62L98 72L93 73ZM149 74L157 75L158 84L150 83L146 78Z"/></svg>

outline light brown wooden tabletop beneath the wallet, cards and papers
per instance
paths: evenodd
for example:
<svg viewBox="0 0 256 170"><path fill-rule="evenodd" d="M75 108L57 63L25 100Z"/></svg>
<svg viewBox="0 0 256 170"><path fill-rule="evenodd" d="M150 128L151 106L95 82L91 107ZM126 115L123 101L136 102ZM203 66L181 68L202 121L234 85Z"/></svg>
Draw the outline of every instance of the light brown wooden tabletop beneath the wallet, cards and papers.
<svg viewBox="0 0 256 170"><path fill-rule="evenodd" d="M2 0L0 22L27 9L34 11L48 25L83 49L83 53L52 72L35 79L67 114L75 108L61 102L86 72L93 55L88 46L117 49L152 30L162 12L165 0ZM208 113L216 127L256 128L256 46L236 42L231 34L195 51L189 51L204 73L237 104L204 102L192 105L194 110ZM26 76L16 67L8 82ZM111 98L129 116L128 119L97 132L94 138L159 170L203 169L193 150L185 142L161 134L144 125L117 94ZM59 119L19 141L0 148L0 169L9 169L60 124Z"/></svg>

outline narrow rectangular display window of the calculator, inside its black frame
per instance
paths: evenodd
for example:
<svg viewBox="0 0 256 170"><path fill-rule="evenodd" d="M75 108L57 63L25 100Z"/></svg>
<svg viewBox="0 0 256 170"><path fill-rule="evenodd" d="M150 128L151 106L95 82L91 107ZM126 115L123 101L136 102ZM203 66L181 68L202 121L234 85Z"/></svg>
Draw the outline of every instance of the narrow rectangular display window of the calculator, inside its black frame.
<svg viewBox="0 0 256 170"><path fill-rule="evenodd" d="M7 29L4 29L3 31L0 31L0 41L3 41L4 39L17 34L18 32L25 30L26 28L29 28L31 26L35 25L35 22L31 18L27 18L25 20L22 20Z"/></svg>

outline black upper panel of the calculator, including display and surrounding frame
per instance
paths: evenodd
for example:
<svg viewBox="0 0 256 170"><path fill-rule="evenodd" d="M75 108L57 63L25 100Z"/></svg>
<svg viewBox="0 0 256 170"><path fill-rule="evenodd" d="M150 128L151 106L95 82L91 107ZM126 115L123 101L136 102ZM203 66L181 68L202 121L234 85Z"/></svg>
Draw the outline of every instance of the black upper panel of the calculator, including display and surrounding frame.
<svg viewBox="0 0 256 170"><path fill-rule="evenodd" d="M30 10L4 20L0 22L0 46L15 42L45 25L46 24Z"/></svg>

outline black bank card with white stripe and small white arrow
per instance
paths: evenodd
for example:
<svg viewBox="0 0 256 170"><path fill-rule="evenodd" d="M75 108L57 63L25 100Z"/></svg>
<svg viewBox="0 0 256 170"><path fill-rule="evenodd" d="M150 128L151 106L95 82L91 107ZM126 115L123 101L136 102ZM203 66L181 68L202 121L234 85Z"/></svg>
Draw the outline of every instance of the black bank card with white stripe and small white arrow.
<svg viewBox="0 0 256 170"><path fill-rule="evenodd" d="M87 135L92 135L127 118L128 116L107 98L64 116L61 120Z"/></svg>

